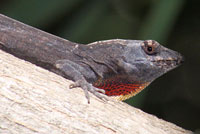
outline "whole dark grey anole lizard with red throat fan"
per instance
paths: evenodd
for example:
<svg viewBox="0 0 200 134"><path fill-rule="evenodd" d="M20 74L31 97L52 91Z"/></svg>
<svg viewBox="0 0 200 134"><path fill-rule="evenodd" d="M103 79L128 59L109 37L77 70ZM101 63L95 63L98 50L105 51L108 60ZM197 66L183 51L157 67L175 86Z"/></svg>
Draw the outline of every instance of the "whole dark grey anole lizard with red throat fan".
<svg viewBox="0 0 200 134"><path fill-rule="evenodd" d="M154 40L73 43L0 15L0 49L57 73L91 92L128 99L180 65L182 56Z"/></svg>

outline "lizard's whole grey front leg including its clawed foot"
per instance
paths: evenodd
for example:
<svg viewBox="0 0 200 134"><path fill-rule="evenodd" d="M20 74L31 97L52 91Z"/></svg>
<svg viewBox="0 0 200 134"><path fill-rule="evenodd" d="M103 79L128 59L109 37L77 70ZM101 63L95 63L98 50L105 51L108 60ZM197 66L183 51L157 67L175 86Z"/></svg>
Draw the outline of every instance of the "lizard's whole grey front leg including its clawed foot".
<svg viewBox="0 0 200 134"><path fill-rule="evenodd" d="M55 67L61 70L66 77L71 78L75 82L74 84L71 84L69 88L81 87L83 89L88 103L90 103L88 92L91 92L101 100L107 100L107 98L102 95L105 94L105 90L94 87L84 78L84 75L82 74L83 72L86 72L84 67L69 60L58 60L55 63Z"/></svg>

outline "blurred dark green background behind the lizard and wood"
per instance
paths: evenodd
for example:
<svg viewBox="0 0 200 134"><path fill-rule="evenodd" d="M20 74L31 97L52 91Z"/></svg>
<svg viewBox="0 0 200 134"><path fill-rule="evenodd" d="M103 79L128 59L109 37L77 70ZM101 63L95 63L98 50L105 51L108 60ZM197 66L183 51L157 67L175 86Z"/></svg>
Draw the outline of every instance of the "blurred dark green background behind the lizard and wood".
<svg viewBox="0 0 200 134"><path fill-rule="evenodd" d="M200 129L199 7L199 0L0 1L1 14L70 41L154 39L182 53L182 66L126 102L192 131Z"/></svg>

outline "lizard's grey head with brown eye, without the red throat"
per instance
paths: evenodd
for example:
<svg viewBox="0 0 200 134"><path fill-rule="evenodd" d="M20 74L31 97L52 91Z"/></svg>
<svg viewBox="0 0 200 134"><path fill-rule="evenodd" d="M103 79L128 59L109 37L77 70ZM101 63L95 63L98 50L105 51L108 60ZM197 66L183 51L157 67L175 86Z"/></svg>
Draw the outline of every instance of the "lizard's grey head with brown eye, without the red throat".
<svg viewBox="0 0 200 134"><path fill-rule="evenodd" d="M132 76L136 80L152 82L183 62L181 54L154 40L128 42L122 56L123 62L118 63L126 73L133 73Z"/></svg>

